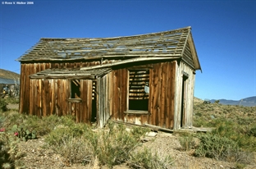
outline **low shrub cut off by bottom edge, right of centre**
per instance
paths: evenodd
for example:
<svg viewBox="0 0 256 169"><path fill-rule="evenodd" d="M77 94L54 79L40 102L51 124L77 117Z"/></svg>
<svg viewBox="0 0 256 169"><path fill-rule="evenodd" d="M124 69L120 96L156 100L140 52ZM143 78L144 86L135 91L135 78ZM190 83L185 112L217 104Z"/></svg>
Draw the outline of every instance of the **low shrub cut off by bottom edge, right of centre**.
<svg viewBox="0 0 256 169"><path fill-rule="evenodd" d="M143 150L130 156L129 165L134 168L169 168L173 163L171 156L153 153L150 149Z"/></svg>

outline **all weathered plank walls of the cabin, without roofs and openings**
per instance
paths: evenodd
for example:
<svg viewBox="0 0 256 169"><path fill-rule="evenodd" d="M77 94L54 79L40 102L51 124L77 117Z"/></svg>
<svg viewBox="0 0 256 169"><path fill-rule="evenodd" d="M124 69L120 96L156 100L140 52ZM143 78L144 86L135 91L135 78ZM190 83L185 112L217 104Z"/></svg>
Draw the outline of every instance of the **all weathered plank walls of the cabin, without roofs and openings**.
<svg viewBox="0 0 256 169"><path fill-rule="evenodd" d="M20 112L31 115L58 116L72 114L76 121L89 123L92 118L92 80L80 80L80 101L70 98L70 81L67 79L30 79L30 75L48 68L70 68L98 65L100 62L26 63L21 64ZM149 109L143 113L126 113L128 110L129 67L114 69L98 78L97 121L103 127L111 116L114 121L149 124L167 129L181 126L182 71L189 75L186 99L193 99L194 71L177 61L149 64ZM193 100L192 100L193 101ZM186 102L185 126L192 125L193 102Z"/></svg>

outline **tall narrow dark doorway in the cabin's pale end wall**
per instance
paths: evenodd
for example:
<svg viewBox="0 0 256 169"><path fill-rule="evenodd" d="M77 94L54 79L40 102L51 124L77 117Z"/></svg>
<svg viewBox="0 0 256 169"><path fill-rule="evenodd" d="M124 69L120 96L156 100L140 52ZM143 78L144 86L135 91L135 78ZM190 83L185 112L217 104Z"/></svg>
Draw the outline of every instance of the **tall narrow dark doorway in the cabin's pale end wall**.
<svg viewBox="0 0 256 169"><path fill-rule="evenodd" d="M185 126L187 80L188 80L188 75L183 74L182 93L181 93L181 128Z"/></svg>

